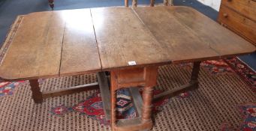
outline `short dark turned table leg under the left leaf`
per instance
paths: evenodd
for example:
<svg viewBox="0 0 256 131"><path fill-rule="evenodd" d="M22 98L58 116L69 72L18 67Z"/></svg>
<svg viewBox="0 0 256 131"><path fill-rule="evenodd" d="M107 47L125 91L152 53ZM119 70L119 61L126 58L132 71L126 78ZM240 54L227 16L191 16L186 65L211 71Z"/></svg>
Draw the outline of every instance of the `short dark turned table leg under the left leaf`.
<svg viewBox="0 0 256 131"><path fill-rule="evenodd" d="M43 103L43 94L39 88L38 79L29 80L31 90L32 90L32 98L35 103Z"/></svg>

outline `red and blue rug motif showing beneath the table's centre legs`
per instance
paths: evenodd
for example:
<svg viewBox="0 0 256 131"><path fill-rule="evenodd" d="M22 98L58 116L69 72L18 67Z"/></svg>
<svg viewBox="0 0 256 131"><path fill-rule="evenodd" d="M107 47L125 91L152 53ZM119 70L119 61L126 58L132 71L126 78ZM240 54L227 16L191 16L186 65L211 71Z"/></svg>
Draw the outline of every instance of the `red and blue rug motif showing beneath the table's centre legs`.
<svg viewBox="0 0 256 131"><path fill-rule="evenodd" d="M142 91L140 91L142 93ZM161 91L155 90L154 94L159 94ZM167 103L169 100L159 100L153 103L153 112L161 111L161 106ZM131 94L128 89L120 89L116 91L116 110L118 119L137 118L138 113L132 103ZM89 117L100 121L101 124L110 124L110 121L106 121L103 109L103 103L101 100L101 93L98 91L92 96L87 97L86 100L77 103L72 107L57 106L52 108L53 115L63 115L68 112L79 112L80 115L88 115Z"/></svg>

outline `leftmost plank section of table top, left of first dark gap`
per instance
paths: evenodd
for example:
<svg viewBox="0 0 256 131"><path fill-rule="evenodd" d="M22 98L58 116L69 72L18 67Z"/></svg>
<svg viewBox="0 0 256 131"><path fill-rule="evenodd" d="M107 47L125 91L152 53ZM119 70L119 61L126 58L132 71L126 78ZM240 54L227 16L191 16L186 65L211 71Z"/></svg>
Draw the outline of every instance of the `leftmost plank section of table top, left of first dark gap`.
<svg viewBox="0 0 256 131"><path fill-rule="evenodd" d="M23 17L0 68L4 79L59 75L64 23L55 12Z"/></svg>

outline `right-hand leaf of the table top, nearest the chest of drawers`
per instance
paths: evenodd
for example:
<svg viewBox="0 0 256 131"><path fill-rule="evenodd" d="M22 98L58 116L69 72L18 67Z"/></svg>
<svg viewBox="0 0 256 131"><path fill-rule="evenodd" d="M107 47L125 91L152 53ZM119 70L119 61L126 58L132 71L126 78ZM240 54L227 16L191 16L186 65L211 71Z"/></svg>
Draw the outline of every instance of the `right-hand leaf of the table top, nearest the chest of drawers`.
<svg viewBox="0 0 256 131"><path fill-rule="evenodd" d="M174 62L201 61L254 52L255 48L191 7L134 8ZM152 19L154 18L154 19Z"/></svg>

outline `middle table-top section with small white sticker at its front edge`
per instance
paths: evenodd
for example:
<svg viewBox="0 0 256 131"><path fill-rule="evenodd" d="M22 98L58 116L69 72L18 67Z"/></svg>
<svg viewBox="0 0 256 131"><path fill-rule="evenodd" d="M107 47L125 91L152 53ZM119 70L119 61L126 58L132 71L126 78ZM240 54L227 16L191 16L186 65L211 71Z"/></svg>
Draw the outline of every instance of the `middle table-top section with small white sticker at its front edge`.
<svg viewBox="0 0 256 131"><path fill-rule="evenodd" d="M137 65L170 63L161 46L143 22L128 7L94 8L92 19L103 70Z"/></svg>

